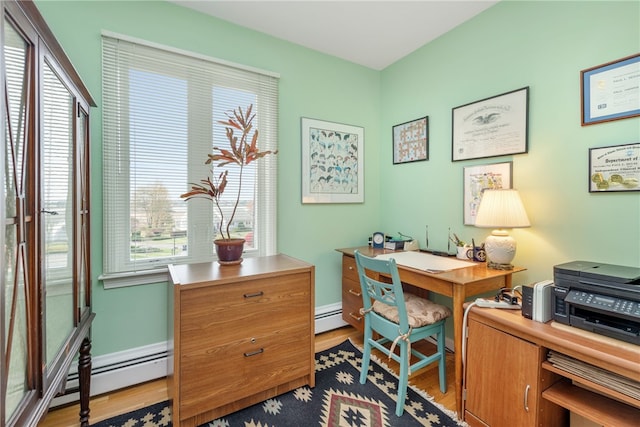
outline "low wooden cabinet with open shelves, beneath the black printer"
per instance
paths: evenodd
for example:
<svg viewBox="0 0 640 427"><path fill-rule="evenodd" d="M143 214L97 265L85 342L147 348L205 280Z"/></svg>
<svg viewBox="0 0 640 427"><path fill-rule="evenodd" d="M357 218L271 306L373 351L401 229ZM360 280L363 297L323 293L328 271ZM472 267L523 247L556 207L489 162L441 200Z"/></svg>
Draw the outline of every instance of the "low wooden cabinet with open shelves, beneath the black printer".
<svg viewBox="0 0 640 427"><path fill-rule="evenodd" d="M474 307L468 318L464 418L470 426L565 426L570 413L596 425L637 425L640 400L611 385L614 378L640 379L637 346L534 322L515 310ZM550 354L569 359L571 368L559 367ZM606 375L609 380L595 379Z"/></svg>

